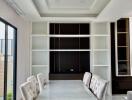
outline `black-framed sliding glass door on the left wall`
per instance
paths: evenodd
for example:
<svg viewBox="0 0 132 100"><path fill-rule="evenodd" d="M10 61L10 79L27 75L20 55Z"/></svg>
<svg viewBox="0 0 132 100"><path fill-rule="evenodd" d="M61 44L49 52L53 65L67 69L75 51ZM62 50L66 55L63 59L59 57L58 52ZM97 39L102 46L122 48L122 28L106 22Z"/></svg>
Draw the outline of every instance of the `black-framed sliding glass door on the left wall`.
<svg viewBox="0 0 132 100"><path fill-rule="evenodd" d="M0 100L16 99L16 32L0 19Z"/></svg>

